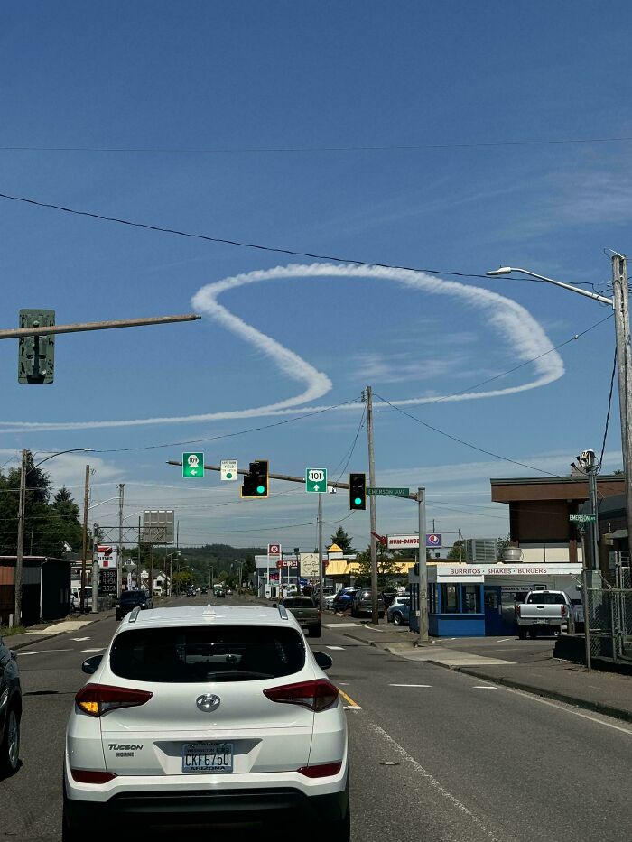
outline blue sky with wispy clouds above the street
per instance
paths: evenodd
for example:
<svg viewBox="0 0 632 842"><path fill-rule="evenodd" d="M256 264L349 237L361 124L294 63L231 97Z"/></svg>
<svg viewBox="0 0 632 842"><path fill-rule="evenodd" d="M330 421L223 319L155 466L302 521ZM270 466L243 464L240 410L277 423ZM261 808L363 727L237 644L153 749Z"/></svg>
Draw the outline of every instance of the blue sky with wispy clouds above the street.
<svg viewBox="0 0 632 842"><path fill-rule="evenodd" d="M310 254L473 275L513 264L605 289L604 249L629 251L632 221L632 140L599 140L632 138L630 23L625 2L5 6L0 192ZM53 308L59 323L206 308L193 324L58 338L51 386L17 384L15 343L0 345L0 464L23 447L102 451L89 456L91 522L115 523L104 501L125 482L129 522L172 507L184 543L313 549L315 504L300 486L274 483L265 503L239 502L237 486L215 475L187 484L164 462L188 449L182 440L358 401L367 384L401 402L541 381L403 408L552 473L600 449L611 320L560 358L471 388L608 315L550 285L271 273L319 261L6 199L0 230L6 327L23 307ZM256 271L268 275L192 303ZM281 402L292 412L260 409ZM269 458L272 470L328 467L335 478L361 417L351 406L200 449L213 463ZM155 418L172 421L94 426ZM620 466L619 449L615 394L606 470ZM49 463L78 499L85 461ZM366 468L362 429L347 472ZM446 542L459 529L506 534L489 477L529 475L389 407L376 407L376 469L378 485L427 487ZM326 535L342 522L366 544L367 514L342 520L346 495L328 496L325 513ZM413 504L378 503L379 532L414 531L415 518Z"/></svg>

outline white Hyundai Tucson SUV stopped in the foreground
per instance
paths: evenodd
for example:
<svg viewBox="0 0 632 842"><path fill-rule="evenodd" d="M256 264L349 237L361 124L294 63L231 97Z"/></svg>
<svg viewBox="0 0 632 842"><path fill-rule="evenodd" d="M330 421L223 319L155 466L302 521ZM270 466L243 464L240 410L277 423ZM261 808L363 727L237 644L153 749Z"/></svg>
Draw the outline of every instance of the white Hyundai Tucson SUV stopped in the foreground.
<svg viewBox="0 0 632 842"><path fill-rule="evenodd" d="M319 663L283 606L135 608L83 665L63 839L295 813L347 842L347 722Z"/></svg>

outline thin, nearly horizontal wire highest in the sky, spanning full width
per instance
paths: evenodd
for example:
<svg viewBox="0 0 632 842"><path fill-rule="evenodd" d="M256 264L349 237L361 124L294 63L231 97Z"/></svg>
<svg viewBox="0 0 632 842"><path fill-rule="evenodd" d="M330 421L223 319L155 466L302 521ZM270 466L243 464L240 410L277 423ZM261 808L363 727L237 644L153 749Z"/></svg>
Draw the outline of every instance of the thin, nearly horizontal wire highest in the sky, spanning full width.
<svg viewBox="0 0 632 842"><path fill-rule="evenodd" d="M497 149L512 146L562 146L581 143L629 143L632 137L571 137L545 140L488 141L479 143L378 143L331 146L0 146L0 152L84 152L135 154L247 154L421 152L432 149Z"/></svg>

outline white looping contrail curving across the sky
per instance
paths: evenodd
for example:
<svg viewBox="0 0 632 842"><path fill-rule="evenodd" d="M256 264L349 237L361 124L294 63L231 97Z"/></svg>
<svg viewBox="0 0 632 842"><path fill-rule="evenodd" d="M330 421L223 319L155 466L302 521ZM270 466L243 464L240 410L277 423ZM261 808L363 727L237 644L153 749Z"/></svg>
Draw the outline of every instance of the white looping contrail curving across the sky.
<svg viewBox="0 0 632 842"><path fill-rule="evenodd" d="M466 392L433 397L413 397L393 401L396 406L416 406L437 401L471 401L481 398L500 397L507 394L526 392L539 386L553 383L564 374L562 357L552 350L552 343L544 329L531 313L516 301L505 298L497 292L482 287L470 286L456 281L443 281L433 275L414 272L409 269L386 269L380 266L358 266L356 264L289 264L274 269L257 269L254 272L231 275L220 281L203 286L192 298L196 310L215 319L225 328L250 345L256 347L272 360L284 375L302 384L302 392L284 401L256 406L250 409L206 412L198 415L178 415L159 418L123 419L119 421L0 421L0 432L23 432L25 430L89 430L95 428L135 427L149 424L176 424L196 421L226 421L237 418L256 418L264 415L291 415L299 412L315 412L329 409L322 406L305 406L306 402L317 401L330 392L332 383L323 372L284 347L261 330L247 324L243 319L227 310L218 302L222 292L234 290L251 283L277 281L281 279L311 279L339 277L369 281L393 281L415 291L430 292L460 299L471 307L483 310L488 326L495 328L516 353L518 359L526 362L549 352L547 356L534 359L535 377L527 383L492 389L484 392ZM347 403L340 410L356 409L361 404ZM376 403L376 405L379 405Z"/></svg>

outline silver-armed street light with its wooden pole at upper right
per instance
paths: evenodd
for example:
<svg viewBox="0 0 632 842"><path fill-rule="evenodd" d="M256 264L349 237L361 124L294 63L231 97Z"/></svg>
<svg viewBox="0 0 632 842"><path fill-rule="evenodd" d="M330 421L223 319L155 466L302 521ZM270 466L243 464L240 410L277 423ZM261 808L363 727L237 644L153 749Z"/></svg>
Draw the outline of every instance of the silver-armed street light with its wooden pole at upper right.
<svg viewBox="0 0 632 842"><path fill-rule="evenodd" d="M623 254L613 254L612 262L612 298L599 295L598 292L589 292L573 286L572 283L554 281L529 269L520 269L516 266L501 266L487 274L490 277L520 273L535 278L538 281L553 283L563 290L570 290L599 301L601 304L608 304L614 312L615 340L617 343L617 372L618 372L618 404L621 419L621 451L623 456L623 471L626 488L626 514L627 514L627 535L628 540L632 537L632 477L630 477L630 457L632 456L632 352L630 351L630 319L628 307L627 290L627 258ZM598 524L595 523L595 529ZM593 561L598 566L597 560Z"/></svg>

